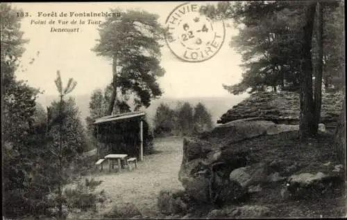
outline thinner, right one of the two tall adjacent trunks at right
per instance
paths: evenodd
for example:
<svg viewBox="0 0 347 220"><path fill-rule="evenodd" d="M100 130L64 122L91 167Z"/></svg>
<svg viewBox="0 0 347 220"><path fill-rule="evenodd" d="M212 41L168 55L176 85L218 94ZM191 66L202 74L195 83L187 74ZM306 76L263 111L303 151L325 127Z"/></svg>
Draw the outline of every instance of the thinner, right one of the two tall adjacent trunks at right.
<svg viewBox="0 0 347 220"><path fill-rule="evenodd" d="M316 78L314 85L314 134L318 131L319 119L321 118L322 106L322 77L323 77L323 3L317 3L317 62Z"/></svg>

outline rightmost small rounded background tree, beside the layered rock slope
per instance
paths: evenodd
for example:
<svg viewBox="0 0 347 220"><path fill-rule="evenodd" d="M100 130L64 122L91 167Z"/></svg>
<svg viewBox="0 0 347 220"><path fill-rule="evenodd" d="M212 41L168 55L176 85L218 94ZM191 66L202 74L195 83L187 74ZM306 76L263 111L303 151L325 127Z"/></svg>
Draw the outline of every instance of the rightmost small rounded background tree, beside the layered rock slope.
<svg viewBox="0 0 347 220"><path fill-rule="evenodd" d="M211 114L208 112L208 109L206 109L205 105L203 105L201 102L198 102L198 104L196 104L196 107L194 108L193 122L194 131L197 131L199 133L212 128Z"/></svg>

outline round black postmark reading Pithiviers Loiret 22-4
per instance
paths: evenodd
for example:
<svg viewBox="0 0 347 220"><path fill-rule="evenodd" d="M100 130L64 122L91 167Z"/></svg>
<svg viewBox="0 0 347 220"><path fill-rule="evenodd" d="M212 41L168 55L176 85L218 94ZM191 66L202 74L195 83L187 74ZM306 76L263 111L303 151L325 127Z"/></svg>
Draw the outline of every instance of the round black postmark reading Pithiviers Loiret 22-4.
<svg viewBox="0 0 347 220"><path fill-rule="evenodd" d="M187 62L203 62L216 55L223 45L223 21L201 15L196 3L177 6L165 21L167 46L176 57Z"/></svg>

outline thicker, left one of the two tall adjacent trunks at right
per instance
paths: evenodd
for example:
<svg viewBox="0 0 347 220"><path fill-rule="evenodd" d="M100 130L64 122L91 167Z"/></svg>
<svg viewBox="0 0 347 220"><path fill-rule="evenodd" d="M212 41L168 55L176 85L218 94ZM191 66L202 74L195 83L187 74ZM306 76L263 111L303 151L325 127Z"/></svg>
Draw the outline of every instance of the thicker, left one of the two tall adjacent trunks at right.
<svg viewBox="0 0 347 220"><path fill-rule="evenodd" d="M303 26L303 48L300 74L300 138L312 137L314 130L314 102L312 89L312 33L316 3L308 3Z"/></svg>

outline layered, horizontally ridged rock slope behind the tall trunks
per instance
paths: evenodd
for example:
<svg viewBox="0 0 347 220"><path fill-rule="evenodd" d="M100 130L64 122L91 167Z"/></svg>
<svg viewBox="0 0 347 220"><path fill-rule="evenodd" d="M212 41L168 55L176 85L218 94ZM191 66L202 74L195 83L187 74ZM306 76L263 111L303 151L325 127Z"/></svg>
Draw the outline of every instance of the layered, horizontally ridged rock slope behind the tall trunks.
<svg viewBox="0 0 347 220"><path fill-rule="evenodd" d="M331 127L337 124L343 106L344 93L323 93L321 123ZM298 125L300 102L298 93L253 93L221 116L218 123L225 124L243 118L260 118L277 124Z"/></svg>

